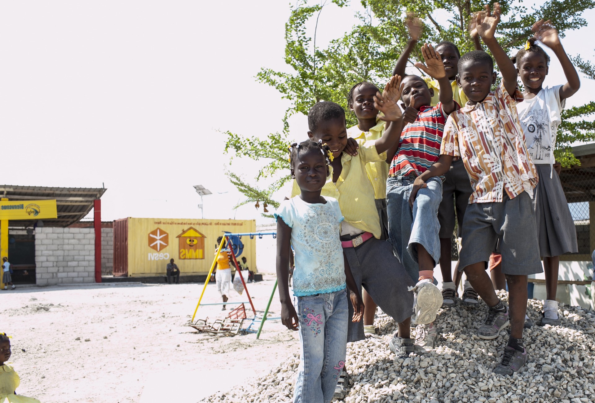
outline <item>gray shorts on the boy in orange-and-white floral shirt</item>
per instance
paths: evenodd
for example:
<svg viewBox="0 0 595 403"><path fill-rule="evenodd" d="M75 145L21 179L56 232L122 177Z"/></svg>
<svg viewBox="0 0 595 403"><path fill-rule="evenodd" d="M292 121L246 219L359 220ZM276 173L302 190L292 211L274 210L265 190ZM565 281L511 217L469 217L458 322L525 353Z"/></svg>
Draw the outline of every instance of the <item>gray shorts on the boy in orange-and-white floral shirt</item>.
<svg viewBox="0 0 595 403"><path fill-rule="evenodd" d="M459 271L468 265L490 261L498 242L502 273L541 273L537 224L533 201L527 192L502 202L471 203L465 211Z"/></svg>

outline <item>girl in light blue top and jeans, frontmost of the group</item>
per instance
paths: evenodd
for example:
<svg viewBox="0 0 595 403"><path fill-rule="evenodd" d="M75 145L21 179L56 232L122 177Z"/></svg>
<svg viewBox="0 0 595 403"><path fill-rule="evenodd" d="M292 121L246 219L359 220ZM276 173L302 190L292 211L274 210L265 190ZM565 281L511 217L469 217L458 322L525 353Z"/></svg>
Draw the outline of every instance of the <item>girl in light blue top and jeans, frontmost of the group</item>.
<svg viewBox="0 0 595 403"><path fill-rule="evenodd" d="M277 278L281 321L299 330L302 360L297 370L294 403L330 402L345 366L347 290L361 320L364 304L343 255L336 199L320 195L329 174L328 146L311 140L290 146L292 177L301 193L281 202L277 221ZM289 295L290 245L295 251L293 304Z"/></svg>

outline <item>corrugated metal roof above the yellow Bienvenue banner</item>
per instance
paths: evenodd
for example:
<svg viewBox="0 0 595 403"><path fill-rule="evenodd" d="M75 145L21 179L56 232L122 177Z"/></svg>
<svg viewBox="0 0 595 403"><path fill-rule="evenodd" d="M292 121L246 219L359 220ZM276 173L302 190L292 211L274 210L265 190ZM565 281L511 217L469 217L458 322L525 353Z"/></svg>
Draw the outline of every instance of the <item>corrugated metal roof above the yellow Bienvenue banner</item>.
<svg viewBox="0 0 595 403"><path fill-rule="evenodd" d="M76 223L93 208L93 200L100 199L104 188L51 188L48 186L13 186L0 185L0 197L9 200L43 200L55 199L58 218L46 218L43 225L47 227L67 227ZM33 226L36 220L10 221L13 227Z"/></svg>

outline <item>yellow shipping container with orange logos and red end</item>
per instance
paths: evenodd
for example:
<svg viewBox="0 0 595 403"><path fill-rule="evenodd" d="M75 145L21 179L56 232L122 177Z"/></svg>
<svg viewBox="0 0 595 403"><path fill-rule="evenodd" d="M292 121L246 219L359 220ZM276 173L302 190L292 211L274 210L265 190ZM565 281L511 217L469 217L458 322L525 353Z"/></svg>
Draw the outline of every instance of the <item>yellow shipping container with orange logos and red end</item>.
<svg viewBox="0 0 595 403"><path fill-rule="evenodd" d="M126 250L127 275L164 276L174 259L180 274L208 274L217 238L224 232L256 231L255 220L197 220L181 218L127 218L127 231L114 232L114 248ZM120 220L117 220L120 221ZM241 257L256 271L256 240L243 236ZM238 260L240 260L238 258ZM114 274L118 275L115 273ZM126 276L122 273L120 275Z"/></svg>

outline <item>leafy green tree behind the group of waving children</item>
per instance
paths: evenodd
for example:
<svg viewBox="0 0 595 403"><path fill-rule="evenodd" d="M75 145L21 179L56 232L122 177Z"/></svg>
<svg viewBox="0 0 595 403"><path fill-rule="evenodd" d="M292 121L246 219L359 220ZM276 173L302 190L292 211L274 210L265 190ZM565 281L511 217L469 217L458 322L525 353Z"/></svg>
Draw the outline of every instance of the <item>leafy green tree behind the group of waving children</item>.
<svg viewBox="0 0 595 403"><path fill-rule="evenodd" d="M239 189L247 198L243 203L259 200L274 205L275 201L271 199L273 192L290 179L287 162L290 116L307 114L309 108L321 100L337 102L348 111L346 95L353 84L369 81L381 85L390 78L399 52L408 41L404 24L408 13L418 15L424 22L418 49L411 54L414 63L422 61L419 46L424 41L437 43L450 40L457 43L462 53L472 50L474 45L468 35L469 20L472 13L484 7L484 3L479 0L362 0L365 11L357 14L359 24L332 40L324 49L320 48L316 45L320 14L328 5L346 7L345 3L344 0L324 0L312 5L304 0L292 6L285 26L285 61L294 73L262 68L256 74L259 82L273 86L284 99L288 99L290 107L283 116L283 132L271 133L265 140L227 133L226 152L266 161L256 175L256 186L230 173L234 183L242 184ZM540 7L529 9L515 1L500 1L503 17L498 40L506 51L519 48L533 36L531 26L540 18L552 20L563 37L568 29L586 26L587 21L581 14L594 6L594 0L550 0ZM436 13L436 10L440 12ZM447 15L446 23L441 23L437 15ZM313 32L308 32L306 25L313 18L316 18L317 24ZM592 113L593 106L587 104L565 111L565 120L560 126L562 133L559 135L562 150L558 153L565 165L574 162L572 153L568 154L568 145L577 140L591 139L593 123L580 118ZM347 124L356 124L354 115L347 113ZM259 189L258 183L270 177L276 179L273 184L266 189Z"/></svg>

